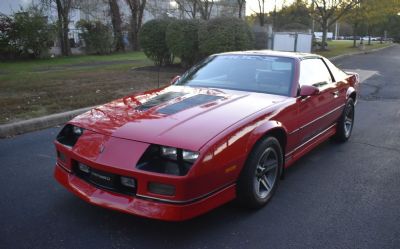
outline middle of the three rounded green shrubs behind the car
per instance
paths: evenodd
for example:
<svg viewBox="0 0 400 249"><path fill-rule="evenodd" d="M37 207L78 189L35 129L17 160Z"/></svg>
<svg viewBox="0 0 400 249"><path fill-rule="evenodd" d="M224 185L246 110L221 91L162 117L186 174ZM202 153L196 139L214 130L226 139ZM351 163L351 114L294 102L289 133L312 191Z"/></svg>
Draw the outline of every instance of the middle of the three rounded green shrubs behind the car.
<svg viewBox="0 0 400 249"><path fill-rule="evenodd" d="M198 20L175 20L167 28L167 46L181 59L183 67L192 66L199 59Z"/></svg>

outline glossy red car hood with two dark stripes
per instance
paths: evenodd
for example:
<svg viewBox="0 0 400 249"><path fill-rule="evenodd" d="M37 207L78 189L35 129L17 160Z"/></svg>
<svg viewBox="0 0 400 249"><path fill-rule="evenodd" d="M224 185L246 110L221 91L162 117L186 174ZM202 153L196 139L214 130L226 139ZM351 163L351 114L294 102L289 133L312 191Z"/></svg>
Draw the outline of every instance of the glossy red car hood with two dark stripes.
<svg viewBox="0 0 400 249"><path fill-rule="evenodd" d="M104 135L196 151L243 118L285 99L169 86L95 107L70 123Z"/></svg>

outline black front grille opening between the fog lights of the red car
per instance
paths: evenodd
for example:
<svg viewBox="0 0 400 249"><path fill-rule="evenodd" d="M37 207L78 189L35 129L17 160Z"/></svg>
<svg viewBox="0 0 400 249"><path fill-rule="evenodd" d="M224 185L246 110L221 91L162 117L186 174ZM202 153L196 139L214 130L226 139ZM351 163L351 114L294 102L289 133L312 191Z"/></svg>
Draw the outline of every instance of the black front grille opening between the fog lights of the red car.
<svg viewBox="0 0 400 249"><path fill-rule="evenodd" d="M136 194L137 187L133 188L122 185L120 175L97 170L77 161L74 161L72 171L77 177L84 180L85 182L92 184L95 187L120 194Z"/></svg>

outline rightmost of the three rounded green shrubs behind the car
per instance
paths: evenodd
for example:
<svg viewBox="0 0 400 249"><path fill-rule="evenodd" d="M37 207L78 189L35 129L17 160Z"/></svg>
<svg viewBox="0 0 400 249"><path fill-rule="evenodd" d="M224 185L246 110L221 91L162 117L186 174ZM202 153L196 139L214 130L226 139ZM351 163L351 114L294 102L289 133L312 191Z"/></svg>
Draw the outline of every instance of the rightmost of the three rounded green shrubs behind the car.
<svg viewBox="0 0 400 249"><path fill-rule="evenodd" d="M221 17L200 25L199 49L202 56L253 47L252 32L241 19Z"/></svg>

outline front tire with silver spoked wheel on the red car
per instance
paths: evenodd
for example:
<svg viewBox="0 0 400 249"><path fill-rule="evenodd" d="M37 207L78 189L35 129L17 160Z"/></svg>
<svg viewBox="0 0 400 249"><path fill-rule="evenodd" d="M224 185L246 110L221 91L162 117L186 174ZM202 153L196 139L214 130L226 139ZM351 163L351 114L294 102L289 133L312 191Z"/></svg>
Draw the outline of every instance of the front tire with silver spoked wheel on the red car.
<svg viewBox="0 0 400 249"><path fill-rule="evenodd" d="M249 208L264 206L277 188L282 165L282 148L276 138L267 137L258 142L239 177L239 203Z"/></svg>

